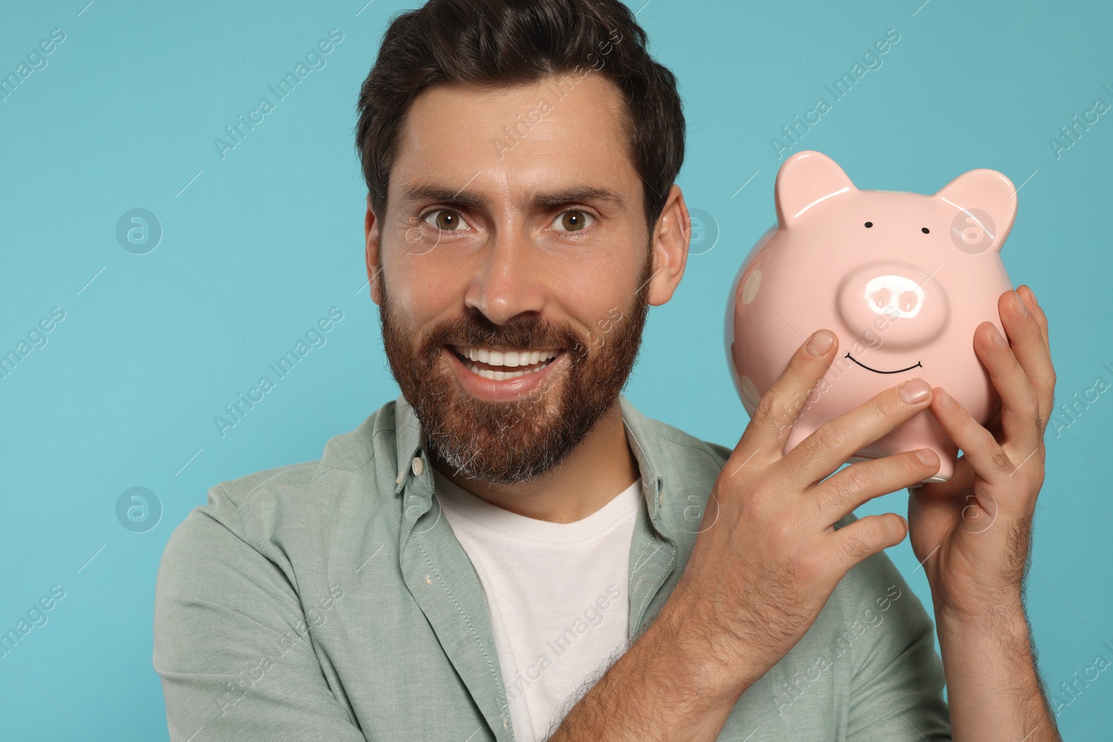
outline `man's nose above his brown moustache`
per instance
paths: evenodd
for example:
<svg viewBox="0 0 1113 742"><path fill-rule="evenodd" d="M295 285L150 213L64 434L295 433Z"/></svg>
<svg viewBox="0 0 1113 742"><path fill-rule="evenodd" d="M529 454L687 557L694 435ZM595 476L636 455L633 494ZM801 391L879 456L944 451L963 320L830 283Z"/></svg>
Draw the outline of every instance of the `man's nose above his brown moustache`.
<svg viewBox="0 0 1113 742"><path fill-rule="evenodd" d="M469 265L464 303L502 325L523 311L541 311L545 301L542 250L519 229L503 229L475 251Z"/></svg>

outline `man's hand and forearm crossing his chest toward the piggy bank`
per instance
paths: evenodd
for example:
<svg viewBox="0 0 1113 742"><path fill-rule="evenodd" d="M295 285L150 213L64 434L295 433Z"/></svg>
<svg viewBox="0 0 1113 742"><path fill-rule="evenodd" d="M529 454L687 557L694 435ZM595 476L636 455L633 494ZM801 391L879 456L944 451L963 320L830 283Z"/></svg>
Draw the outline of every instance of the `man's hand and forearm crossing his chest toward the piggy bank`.
<svg viewBox="0 0 1113 742"><path fill-rule="evenodd" d="M818 385L837 346L823 329L797 349L719 473L710 495L717 508L703 515L713 512L715 525L696 537L660 614L549 742L718 739L738 699L807 633L839 580L904 540L908 525L895 513L838 531L835 523L937 472L934 453L859 462L825 477L926 409L926 382L886 389L782 454L800 413L788 402ZM920 396L908 396L917 389Z"/></svg>

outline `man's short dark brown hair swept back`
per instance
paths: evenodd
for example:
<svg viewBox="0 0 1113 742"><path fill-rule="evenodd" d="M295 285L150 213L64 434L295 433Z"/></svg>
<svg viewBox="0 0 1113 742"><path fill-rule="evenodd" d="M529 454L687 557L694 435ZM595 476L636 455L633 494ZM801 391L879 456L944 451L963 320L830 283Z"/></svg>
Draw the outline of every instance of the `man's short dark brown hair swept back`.
<svg viewBox="0 0 1113 742"><path fill-rule="evenodd" d="M649 234L684 158L676 77L646 50L619 0L429 0L391 20L359 89L355 145L382 218L406 111L439 82L511 87L598 72L626 100L629 157L642 178Z"/></svg>

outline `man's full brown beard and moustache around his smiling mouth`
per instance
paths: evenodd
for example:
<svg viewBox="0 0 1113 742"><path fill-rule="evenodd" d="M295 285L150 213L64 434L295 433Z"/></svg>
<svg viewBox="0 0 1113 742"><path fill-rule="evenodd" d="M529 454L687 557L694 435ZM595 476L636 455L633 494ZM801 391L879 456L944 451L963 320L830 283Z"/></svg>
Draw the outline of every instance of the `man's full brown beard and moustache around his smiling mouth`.
<svg viewBox="0 0 1113 742"><path fill-rule="evenodd" d="M535 479L561 464L610 409L633 369L649 314L651 267L647 259L631 305L613 308L587 337L536 313L496 325L469 308L412 342L391 314L380 273L386 358L430 453L454 474L508 485ZM452 345L561 348L571 364L565 372L550 370L549 378L519 399L489 402L467 394L444 367L441 356Z"/></svg>

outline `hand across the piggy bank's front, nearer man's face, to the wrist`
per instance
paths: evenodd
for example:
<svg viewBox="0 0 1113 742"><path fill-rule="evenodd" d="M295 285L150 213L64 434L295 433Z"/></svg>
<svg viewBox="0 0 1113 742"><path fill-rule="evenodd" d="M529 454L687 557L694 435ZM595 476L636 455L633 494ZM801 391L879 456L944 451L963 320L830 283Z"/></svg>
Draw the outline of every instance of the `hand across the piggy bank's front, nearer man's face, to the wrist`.
<svg viewBox="0 0 1113 742"><path fill-rule="evenodd" d="M697 537L662 610L678 625L698 627L686 632L687 650L739 695L788 654L853 566L900 543L907 532L894 513L868 515L838 531L835 522L939 467L930 451L920 452L923 459L905 452L829 476L930 404L930 387L920 378L826 422L782 454L800 412L789 402L808 396L837 345L833 333L817 332L761 397L711 491L715 527Z"/></svg>

